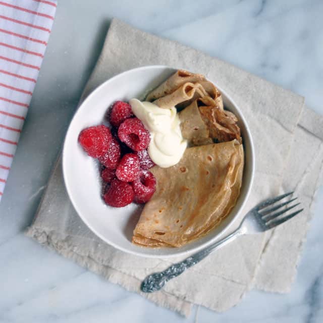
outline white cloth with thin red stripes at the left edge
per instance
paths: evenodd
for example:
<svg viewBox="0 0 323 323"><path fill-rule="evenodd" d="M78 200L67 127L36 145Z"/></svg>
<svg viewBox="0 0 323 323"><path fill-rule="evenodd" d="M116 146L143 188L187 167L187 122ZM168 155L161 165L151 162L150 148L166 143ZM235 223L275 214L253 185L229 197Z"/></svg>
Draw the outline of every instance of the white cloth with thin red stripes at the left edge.
<svg viewBox="0 0 323 323"><path fill-rule="evenodd" d="M0 0L0 200L56 7L56 0Z"/></svg>

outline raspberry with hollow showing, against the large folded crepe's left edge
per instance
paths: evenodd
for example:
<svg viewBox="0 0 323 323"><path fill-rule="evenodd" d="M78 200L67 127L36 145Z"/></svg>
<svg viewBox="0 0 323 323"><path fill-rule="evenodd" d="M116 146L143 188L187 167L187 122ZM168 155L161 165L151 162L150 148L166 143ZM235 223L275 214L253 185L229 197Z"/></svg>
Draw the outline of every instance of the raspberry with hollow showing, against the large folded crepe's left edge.
<svg viewBox="0 0 323 323"><path fill-rule="evenodd" d="M149 171L141 171L139 179L132 183L136 203L146 203L156 190L156 179Z"/></svg>

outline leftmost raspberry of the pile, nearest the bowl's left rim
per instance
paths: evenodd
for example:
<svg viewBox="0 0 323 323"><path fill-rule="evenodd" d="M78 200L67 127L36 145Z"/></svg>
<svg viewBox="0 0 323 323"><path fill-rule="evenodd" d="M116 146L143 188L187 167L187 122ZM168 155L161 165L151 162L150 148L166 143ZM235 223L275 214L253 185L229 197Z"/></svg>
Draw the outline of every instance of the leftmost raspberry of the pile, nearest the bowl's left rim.
<svg viewBox="0 0 323 323"><path fill-rule="evenodd" d="M89 156L98 158L108 150L112 135L109 128L101 125L83 129L78 140Z"/></svg>

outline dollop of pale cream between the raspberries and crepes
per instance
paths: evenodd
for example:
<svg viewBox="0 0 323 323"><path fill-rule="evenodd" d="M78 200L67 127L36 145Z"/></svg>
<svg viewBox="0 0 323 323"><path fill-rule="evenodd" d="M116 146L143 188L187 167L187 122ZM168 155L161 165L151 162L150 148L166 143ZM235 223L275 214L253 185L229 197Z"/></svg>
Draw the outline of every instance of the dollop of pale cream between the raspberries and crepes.
<svg viewBox="0 0 323 323"><path fill-rule="evenodd" d="M138 99L131 99L129 103L134 115L150 133L148 154L151 160L162 168L176 165L182 158L187 141L182 137L175 107L161 109L156 104Z"/></svg>

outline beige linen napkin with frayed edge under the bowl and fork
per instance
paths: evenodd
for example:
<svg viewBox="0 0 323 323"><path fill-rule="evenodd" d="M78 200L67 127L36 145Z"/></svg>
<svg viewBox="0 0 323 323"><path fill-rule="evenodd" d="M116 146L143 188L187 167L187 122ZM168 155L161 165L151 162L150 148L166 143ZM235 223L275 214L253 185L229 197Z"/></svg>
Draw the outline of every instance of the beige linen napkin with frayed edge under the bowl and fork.
<svg viewBox="0 0 323 323"><path fill-rule="evenodd" d="M170 281L164 290L143 294L139 287L146 275L164 270L180 258L141 258L97 238L69 201L59 159L27 234L111 282L184 315L189 314L192 303L224 311L252 287L289 291L322 173L323 117L303 109L304 99L288 90L116 19L82 98L120 72L155 64L202 73L226 89L240 106L256 152L254 185L245 211L266 197L294 189L305 211L268 234L240 237Z"/></svg>

